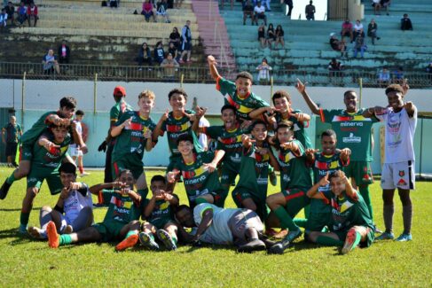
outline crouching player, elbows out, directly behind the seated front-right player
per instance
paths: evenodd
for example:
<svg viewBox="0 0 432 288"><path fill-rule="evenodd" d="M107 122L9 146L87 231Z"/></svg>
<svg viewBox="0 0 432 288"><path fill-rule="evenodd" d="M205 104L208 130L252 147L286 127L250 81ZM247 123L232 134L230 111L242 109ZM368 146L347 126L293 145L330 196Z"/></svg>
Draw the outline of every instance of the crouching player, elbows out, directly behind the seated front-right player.
<svg viewBox="0 0 432 288"><path fill-rule="evenodd" d="M334 130L328 129L321 134L322 152L307 149L307 163L312 167L314 173L314 183L326 175L327 172L341 170L350 164L351 151L348 148L337 149L337 138ZM318 191L330 191L330 186L319 187ZM323 201L318 199L310 200L310 213L306 223L306 234L310 231L321 231L330 223L331 208Z"/></svg>

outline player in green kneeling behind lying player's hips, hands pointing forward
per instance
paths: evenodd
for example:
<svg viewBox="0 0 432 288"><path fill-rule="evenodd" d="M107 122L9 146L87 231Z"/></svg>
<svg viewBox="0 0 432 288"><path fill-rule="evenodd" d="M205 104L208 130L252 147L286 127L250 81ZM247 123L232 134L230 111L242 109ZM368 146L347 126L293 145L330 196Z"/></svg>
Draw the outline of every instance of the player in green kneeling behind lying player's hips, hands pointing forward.
<svg viewBox="0 0 432 288"><path fill-rule="evenodd" d="M267 143L267 127L263 121L252 124L252 137L242 136L243 152L240 163L240 179L232 191L232 198L239 208L255 211L264 222L267 219L267 183L269 162L277 160Z"/></svg>

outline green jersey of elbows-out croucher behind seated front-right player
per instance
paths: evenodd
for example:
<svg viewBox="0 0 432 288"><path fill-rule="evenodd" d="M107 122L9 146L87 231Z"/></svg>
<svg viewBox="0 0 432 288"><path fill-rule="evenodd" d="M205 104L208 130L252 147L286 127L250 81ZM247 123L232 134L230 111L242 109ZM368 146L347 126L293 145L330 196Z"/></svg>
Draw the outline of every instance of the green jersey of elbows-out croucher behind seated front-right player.
<svg viewBox="0 0 432 288"><path fill-rule="evenodd" d="M332 155L324 155L322 152L316 152L315 160L312 163L314 183L318 183L319 180L321 180L321 178L327 174L327 172L342 170L342 167L347 166L349 163L350 160L347 163L344 163L342 161L341 152L339 151L336 151ZM330 191L330 185L326 185L325 187L319 187L318 191ZM327 206L326 203L320 199L311 199L310 211L312 213L329 213L330 206Z"/></svg>

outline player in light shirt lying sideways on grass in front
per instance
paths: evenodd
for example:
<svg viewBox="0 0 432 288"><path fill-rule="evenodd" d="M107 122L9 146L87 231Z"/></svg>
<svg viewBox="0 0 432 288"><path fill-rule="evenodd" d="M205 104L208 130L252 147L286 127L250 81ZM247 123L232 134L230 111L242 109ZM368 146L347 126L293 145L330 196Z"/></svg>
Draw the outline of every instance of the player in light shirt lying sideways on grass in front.
<svg viewBox="0 0 432 288"><path fill-rule="evenodd" d="M236 245L239 252L260 251L266 248L263 222L254 211L239 208L220 208L201 203L193 208L181 205L176 211L183 227L198 227L186 242L216 245Z"/></svg>

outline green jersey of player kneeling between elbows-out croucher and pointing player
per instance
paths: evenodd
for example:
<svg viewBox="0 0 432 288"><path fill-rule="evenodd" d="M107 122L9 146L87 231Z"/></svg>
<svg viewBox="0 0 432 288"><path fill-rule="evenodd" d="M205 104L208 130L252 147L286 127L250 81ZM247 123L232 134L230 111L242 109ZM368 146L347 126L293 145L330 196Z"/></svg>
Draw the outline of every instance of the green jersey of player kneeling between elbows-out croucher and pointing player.
<svg viewBox="0 0 432 288"><path fill-rule="evenodd" d="M297 144L299 152L295 153L289 149L280 148L278 162L280 166L280 189L300 189L308 191L312 187L310 167L306 163L304 148L299 140L292 140Z"/></svg>

